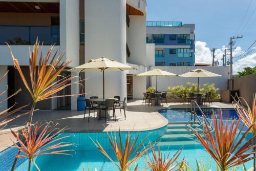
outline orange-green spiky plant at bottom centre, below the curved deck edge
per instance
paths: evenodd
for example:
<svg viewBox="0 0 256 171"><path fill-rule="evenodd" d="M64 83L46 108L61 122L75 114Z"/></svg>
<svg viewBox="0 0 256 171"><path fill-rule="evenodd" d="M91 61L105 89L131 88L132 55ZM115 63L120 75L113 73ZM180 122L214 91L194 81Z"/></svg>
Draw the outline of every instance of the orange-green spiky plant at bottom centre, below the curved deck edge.
<svg viewBox="0 0 256 171"><path fill-rule="evenodd" d="M139 136L137 136L136 138L132 138L132 134L127 133L124 147L123 147L120 129L119 129L119 141L116 137L116 134L114 136L113 135L110 136L109 133L107 133L107 135L108 135L110 144L113 148L113 152L116 156L116 159L118 160L118 163L116 163L114 159L110 157L110 155L104 150L104 148L100 145L98 141L95 142L93 139L91 140L99 149L99 151L103 155L105 155L107 158L109 158L110 161L113 162L115 166L118 168L118 170L120 171L126 171L127 169L129 169L129 167L133 163L135 163L135 161L137 161L145 153L144 150L139 151L139 148L147 139L147 137L144 138L139 144L137 144ZM134 170L137 170L137 167L138 167L138 164L135 164Z"/></svg>

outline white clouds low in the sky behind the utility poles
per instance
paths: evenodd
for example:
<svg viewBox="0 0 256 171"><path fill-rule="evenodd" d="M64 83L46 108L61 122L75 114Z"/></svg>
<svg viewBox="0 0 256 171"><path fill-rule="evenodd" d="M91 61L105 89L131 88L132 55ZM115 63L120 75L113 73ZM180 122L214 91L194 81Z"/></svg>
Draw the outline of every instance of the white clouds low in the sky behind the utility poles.
<svg viewBox="0 0 256 171"><path fill-rule="evenodd" d="M195 44L196 48L196 62L198 63L212 63L212 53L210 51L210 48L207 47L206 42L204 41L196 41ZM226 46L222 46L221 49L216 49L215 55L216 59L220 62L219 66L222 66L222 58L224 54L224 50L228 49ZM241 47L237 47L235 50L232 51L233 57L239 56L243 53ZM227 52L229 54L229 52ZM227 59L229 59L229 56L227 56ZM248 55L244 58L238 59L237 61L233 62L233 74L236 74L238 71L242 71L245 67L255 67L256 66L256 53L253 53L251 55Z"/></svg>

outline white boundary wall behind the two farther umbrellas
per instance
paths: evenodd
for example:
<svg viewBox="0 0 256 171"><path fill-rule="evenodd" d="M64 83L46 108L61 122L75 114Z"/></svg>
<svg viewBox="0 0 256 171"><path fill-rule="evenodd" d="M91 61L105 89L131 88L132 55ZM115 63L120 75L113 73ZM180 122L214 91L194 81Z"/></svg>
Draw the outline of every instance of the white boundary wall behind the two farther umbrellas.
<svg viewBox="0 0 256 171"><path fill-rule="evenodd" d="M199 67L150 67L150 70L159 68L164 71L168 71L177 75L184 74L191 70L197 69ZM215 83L216 88L220 90L227 90L227 81L229 78L229 67L200 67L201 69L205 69L207 71L220 74L221 77L204 77L199 78L199 83L201 88L204 83ZM197 78L186 78L186 77L158 77L158 90L159 91L167 91L167 87L173 86L186 86L187 82L197 83ZM156 86L156 77L151 78L151 85ZM220 93L220 91L218 92Z"/></svg>

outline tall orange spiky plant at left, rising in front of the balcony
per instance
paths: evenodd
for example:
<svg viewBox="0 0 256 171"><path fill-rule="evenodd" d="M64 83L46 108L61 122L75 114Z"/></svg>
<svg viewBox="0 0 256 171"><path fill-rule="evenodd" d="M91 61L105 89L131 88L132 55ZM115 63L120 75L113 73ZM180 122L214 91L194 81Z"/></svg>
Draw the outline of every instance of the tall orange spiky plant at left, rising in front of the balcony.
<svg viewBox="0 0 256 171"><path fill-rule="evenodd" d="M29 49L29 81L26 79L22 69L20 68L18 60L14 57L11 47L8 45L10 54L14 63L14 67L18 70L22 81L28 90L29 94L33 99L33 104L31 106L31 112L29 115L28 123L31 124L33 111L35 105L38 101L64 97L64 96L76 96L76 95L63 95L63 96L52 96L60 90L65 89L68 86L71 86L74 83L69 83L76 76L63 77L62 79L56 81L57 77L60 76L60 73L71 63L72 60L67 62L61 61L65 53L61 53L57 56L58 50L53 53L54 45L52 45L47 51L46 55L42 54L42 45L38 61L38 51L39 51L39 41L37 41L33 46L33 50ZM38 65L37 65L38 63ZM30 82L30 84L29 84Z"/></svg>

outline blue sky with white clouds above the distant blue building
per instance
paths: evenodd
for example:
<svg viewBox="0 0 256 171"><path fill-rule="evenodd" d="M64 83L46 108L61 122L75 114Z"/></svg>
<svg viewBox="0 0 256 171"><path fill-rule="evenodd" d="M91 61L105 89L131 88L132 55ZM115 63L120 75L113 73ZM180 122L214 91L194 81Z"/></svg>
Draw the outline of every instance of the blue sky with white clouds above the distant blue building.
<svg viewBox="0 0 256 171"><path fill-rule="evenodd" d="M256 40L255 0L147 0L146 20L195 24L196 62L211 63L210 50L216 48L216 58L222 65L224 49L232 36L243 35L234 40L233 57L243 54ZM256 42L253 47L250 55L234 58L234 73L256 66Z"/></svg>

